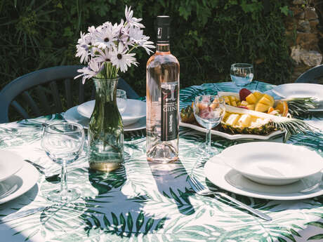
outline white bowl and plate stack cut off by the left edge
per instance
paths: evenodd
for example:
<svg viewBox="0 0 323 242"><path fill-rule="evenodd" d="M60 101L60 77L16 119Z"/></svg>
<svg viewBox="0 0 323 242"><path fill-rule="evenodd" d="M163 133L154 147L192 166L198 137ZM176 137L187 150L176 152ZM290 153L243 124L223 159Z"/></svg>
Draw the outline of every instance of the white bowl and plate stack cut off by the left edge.
<svg viewBox="0 0 323 242"><path fill-rule="evenodd" d="M29 191L38 177L36 168L23 161L21 156L0 150L0 204Z"/></svg>

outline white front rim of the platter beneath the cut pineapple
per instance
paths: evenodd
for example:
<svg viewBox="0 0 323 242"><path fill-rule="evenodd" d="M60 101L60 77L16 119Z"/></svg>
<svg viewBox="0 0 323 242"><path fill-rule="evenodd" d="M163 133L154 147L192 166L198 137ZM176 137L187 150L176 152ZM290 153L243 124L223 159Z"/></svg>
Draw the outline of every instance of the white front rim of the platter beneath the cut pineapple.
<svg viewBox="0 0 323 242"><path fill-rule="evenodd" d="M203 128L201 126L197 126L192 123L184 123L180 121L180 126L192 128L194 130L206 133L206 128ZM212 135L218 135L220 137L225 137L228 140L269 140L272 137L276 137L278 135L282 135L284 132L282 130L276 130L268 135L245 135L245 134L236 134L232 135L230 133L221 132L218 130L211 130Z"/></svg>

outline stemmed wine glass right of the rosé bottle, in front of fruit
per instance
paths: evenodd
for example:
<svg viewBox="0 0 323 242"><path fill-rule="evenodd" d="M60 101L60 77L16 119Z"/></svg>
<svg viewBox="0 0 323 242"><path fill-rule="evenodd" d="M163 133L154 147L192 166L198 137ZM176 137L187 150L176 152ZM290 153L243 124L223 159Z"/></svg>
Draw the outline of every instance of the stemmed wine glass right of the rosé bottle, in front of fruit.
<svg viewBox="0 0 323 242"><path fill-rule="evenodd" d="M206 141L203 147L207 154L211 151L211 129L222 121L225 114L225 103L218 95L199 95L195 98L193 112L197 122L207 129Z"/></svg>

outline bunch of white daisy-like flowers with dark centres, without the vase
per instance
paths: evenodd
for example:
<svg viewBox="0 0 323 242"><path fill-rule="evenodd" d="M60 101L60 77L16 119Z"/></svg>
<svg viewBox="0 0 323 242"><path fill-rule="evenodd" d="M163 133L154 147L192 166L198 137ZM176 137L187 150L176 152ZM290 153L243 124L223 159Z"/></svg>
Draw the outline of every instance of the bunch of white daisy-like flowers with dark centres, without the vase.
<svg viewBox="0 0 323 242"><path fill-rule="evenodd" d="M150 37L143 34L145 26L140 23L141 18L134 18L131 7L125 9L126 21L112 25L105 22L98 27L88 27L88 33L81 32L81 38L77 41L77 54L81 63L88 63L87 67L79 69L83 76L83 83L86 79L95 76L100 79L117 78L119 70L126 72L132 64L136 65L135 55L131 53L135 48L144 48L147 54L152 53L154 48Z"/></svg>

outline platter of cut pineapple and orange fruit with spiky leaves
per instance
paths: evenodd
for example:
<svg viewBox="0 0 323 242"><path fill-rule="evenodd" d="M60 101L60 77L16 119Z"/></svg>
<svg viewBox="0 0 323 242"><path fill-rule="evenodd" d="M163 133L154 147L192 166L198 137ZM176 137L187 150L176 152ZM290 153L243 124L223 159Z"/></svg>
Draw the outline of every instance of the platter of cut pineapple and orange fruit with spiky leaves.
<svg viewBox="0 0 323 242"><path fill-rule="evenodd" d="M275 100L271 95L258 91L251 92L246 88L239 93L218 92L219 100L225 102L225 115L221 123L213 128L214 135L230 140L258 139L268 140L284 134L284 142L296 133L312 131L301 119L294 116L305 114L313 107L309 98ZM195 120L193 105L180 111L180 126L206 132Z"/></svg>

